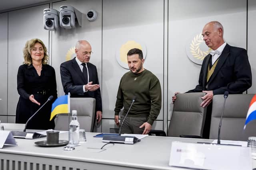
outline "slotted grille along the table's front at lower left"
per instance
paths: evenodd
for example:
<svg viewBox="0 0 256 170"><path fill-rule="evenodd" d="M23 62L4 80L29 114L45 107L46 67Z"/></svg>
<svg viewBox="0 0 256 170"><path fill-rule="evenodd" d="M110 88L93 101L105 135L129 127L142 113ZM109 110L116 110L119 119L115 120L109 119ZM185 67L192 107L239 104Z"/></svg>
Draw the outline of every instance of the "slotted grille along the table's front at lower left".
<svg viewBox="0 0 256 170"><path fill-rule="evenodd" d="M1 150L0 150L1 151ZM82 157L81 157L82 158ZM75 160L66 158L52 158L50 155L39 156L27 153L0 152L0 170L148 170L148 168L120 166L116 164L100 163L91 160ZM152 168L149 168L152 169Z"/></svg>

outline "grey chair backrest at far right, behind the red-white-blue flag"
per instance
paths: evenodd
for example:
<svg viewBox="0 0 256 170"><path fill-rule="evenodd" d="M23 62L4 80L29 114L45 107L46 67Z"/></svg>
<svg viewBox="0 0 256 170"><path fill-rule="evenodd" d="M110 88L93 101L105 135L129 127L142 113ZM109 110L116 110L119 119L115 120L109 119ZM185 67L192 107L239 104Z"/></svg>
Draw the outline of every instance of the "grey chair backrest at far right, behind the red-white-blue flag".
<svg viewBox="0 0 256 170"><path fill-rule="evenodd" d="M247 141L248 137L256 136L256 121L251 121L244 130L244 123L250 101L254 94L230 94L226 99L223 112L220 139ZM215 95L212 99L212 118L210 139L218 139L218 128L222 113L223 94Z"/></svg>

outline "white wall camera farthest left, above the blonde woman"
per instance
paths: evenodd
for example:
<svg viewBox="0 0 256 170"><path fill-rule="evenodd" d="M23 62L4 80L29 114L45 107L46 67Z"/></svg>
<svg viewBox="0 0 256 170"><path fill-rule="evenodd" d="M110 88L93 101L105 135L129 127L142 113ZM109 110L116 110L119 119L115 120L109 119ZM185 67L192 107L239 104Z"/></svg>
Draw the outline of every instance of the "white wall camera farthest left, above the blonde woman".
<svg viewBox="0 0 256 170"><path fill-rule="evenodd" d="M44 29L55 31L59 27L58 11L54 9L44 9Z"/></svg>

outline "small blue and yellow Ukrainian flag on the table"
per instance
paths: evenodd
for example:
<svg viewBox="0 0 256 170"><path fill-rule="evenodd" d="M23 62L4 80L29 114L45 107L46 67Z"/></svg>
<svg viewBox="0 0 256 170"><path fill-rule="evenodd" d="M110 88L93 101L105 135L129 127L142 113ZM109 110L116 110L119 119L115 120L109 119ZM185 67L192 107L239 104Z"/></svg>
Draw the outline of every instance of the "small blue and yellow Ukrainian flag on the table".
<svg viewBox="0 0 256 170"><path fill-rule="evenodd" d="M60 113L70 113L70 94L58 97L52 104L52 112L50 121L52 118Z"/></svg>

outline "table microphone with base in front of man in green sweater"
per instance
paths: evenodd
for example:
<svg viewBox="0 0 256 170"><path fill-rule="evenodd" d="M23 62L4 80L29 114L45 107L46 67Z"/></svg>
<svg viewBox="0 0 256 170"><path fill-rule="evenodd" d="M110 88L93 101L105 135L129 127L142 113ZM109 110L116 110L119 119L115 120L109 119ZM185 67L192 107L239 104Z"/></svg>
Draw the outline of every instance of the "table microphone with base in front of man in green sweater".
<svg viewBox="0 0 256 170"><path fill-rule="evenodd" d="M139 142L140 139L136 138L136 137L133 137L133 136L121 136L121 129L122 129L122 125L133 105L133 103L135 102L136 100L136 96L134 96L134 98L132 99L132 104L131 106L129 107L125 117L124 117L124 120L122 121L122 124L120 125L119 127L119 135L116 136L116 135L104 135L103 136L103 139L102 139L102 142L107 142L107 143L124 143L124 144L134 144L136 142Z"/></svg>

